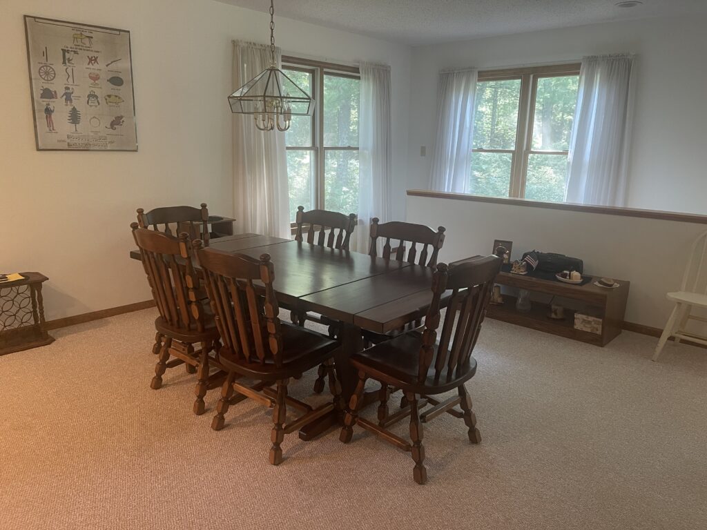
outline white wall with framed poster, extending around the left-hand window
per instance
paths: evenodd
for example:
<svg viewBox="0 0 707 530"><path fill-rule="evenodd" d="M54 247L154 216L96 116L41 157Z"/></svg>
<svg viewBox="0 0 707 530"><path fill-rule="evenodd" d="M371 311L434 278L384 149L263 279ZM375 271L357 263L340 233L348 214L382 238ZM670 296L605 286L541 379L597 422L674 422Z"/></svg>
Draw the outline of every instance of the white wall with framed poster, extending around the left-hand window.
<svg viewBox="0 0 707 530"><path fill-rule="evenodd" d="M37 152L23 15L130 30L138 153ZM230 215L231 40L266 42L268 15L211 0L0 2L0 271L37 270L47 318L151 298L129 260L139 206ZM395 215L404 212L410 49L280 18L286 54L392 66Z"/></svg>

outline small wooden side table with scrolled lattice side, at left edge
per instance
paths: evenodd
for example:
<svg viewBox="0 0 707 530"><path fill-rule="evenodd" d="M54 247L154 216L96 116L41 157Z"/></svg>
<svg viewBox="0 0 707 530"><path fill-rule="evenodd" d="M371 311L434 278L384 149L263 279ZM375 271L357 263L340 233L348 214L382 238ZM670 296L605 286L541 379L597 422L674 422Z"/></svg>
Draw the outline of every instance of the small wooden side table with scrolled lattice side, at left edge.
<svg viewBox="0 0 707 530"><path fill-rule="evenodd" d="M0 283L0 355L54 342L45 329L42 283L49 278L23 272L23 280Z"/></svg>

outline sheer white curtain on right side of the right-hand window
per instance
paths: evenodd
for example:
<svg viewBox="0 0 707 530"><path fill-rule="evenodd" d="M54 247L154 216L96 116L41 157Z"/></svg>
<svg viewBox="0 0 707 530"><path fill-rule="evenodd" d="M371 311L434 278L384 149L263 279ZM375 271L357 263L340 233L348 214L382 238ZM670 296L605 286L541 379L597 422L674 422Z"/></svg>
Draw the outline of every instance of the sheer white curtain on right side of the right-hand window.
<svg viewBox="0 0 707 530"><path fill-rule="evenodd" d="M632 55L585 57L580 70L565 200L626 206Z"/></svg>

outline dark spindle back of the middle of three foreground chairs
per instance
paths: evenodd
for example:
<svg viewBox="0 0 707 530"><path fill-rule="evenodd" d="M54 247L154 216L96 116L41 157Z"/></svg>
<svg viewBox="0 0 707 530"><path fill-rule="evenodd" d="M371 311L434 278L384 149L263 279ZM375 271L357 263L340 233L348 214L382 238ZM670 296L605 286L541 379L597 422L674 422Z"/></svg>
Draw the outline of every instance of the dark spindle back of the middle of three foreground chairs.
<svg viewBox="0 0 707 530"><path fill-rule="evenodd" d="M274 266L269 254L254 259L203 248L194 241L194 250L204 271L206 293L223 348L220 355L233 355L241 363L282 365L282 333L273 281ZM264 288L255 285L260 282Z"/></svg>

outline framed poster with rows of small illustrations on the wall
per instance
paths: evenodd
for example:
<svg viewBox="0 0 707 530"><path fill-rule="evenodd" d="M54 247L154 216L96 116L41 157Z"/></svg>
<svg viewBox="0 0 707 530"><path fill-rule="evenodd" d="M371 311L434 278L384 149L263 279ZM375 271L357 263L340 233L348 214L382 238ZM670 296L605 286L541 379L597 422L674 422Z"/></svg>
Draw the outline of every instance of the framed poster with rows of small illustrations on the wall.
<svg viewBox="0 0 707 530"><path fill-rule="evenodd" d="M25 15L37 151L137 151L130 32Z"/></svg>

